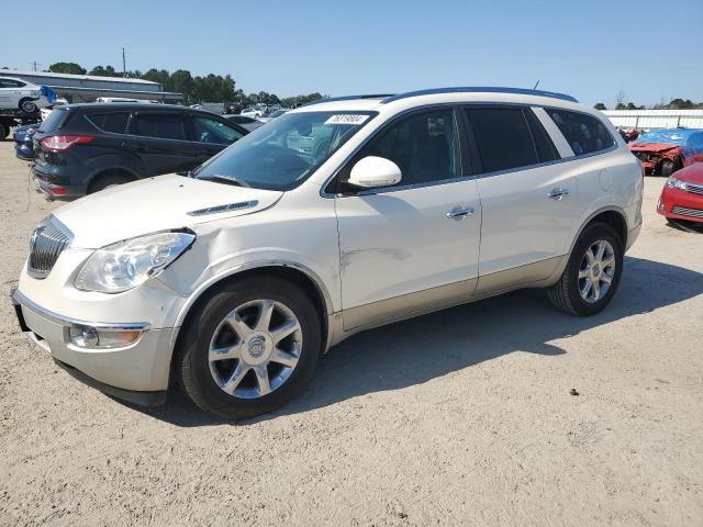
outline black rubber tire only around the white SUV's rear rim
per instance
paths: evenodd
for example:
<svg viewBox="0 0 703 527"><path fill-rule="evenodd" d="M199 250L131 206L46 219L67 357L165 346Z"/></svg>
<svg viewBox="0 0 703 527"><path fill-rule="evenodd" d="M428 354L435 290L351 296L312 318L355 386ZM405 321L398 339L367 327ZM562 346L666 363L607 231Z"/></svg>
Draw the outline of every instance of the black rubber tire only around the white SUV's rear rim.
<svg viewBox="0 0 703 527"><path fill-rule="evenodd" d="M600 300L589 303L579 289L579 270L589 247L599 240L607 242L613 248L615 270L610 288ZM623 240L613 227L604 223L594 223L583 229L577 240L569 261L559 281L547 289L547 296L558 310L576 316L591 316L601 312L613 300L623 273Z"/></svg>

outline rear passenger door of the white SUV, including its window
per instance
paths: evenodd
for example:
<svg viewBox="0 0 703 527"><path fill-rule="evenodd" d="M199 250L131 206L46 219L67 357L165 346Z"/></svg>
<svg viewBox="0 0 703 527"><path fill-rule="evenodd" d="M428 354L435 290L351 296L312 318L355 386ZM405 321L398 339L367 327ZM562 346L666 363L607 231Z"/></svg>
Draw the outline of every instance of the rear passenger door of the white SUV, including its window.
<svg viewBox="0 0 703 527"><path fill-rule="evenodd" d="M579 216L576 175L532 109L467 105L482 205L477 293L548 278Z"/></svg>

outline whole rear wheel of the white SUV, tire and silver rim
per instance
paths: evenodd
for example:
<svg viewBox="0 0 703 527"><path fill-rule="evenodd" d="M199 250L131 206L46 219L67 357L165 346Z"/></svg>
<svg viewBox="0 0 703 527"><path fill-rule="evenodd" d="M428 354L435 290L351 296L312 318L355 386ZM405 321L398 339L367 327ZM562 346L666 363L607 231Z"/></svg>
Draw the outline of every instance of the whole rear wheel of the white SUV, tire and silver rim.
<svg viewBox="0 0 703 527"><path fill-rule="evenodd" d="M559 281L547 290L565 313L594 315L613 300L623 273L623 240L610 225L594 223L577 240Z"/></svg>

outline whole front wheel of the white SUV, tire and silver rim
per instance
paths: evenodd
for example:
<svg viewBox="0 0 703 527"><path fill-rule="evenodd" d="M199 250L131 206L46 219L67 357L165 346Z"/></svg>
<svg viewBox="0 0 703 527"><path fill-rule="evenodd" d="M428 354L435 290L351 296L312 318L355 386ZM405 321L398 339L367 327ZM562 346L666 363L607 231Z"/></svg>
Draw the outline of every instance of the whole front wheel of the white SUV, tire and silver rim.
<svg viewBox="0 0 703 527"><path fill-rule="evenodd" d="M190 319L175 363L188 396L225 418L270 412L304 388L321 349L310 298L276 277L235 281Z"/></svg>

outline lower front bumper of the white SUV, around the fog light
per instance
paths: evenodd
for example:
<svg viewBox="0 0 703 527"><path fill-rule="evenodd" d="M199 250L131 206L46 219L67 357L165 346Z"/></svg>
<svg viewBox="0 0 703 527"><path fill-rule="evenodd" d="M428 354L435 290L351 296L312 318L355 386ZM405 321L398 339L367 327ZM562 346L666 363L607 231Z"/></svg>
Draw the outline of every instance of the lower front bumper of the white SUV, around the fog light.
<svg viewBox="0 0 703 527"><path fill-rule="evenodd" d="M105 324L77 321L53 313L19 290L12 294L22 330L52 354L59 366L87 384L135 404L153 406L166 401L172 328L153 329L148 324ZM71 329L97 327L134 330L141 336L116 348L87 348L71 343Z"/></svg>

